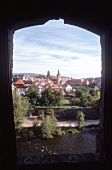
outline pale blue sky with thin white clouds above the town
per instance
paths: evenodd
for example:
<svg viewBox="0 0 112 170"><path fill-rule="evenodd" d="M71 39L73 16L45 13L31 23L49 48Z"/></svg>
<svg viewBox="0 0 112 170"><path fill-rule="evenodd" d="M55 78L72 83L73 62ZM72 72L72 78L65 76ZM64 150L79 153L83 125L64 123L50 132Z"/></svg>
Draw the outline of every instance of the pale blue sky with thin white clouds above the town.
<svg viewBox="0 0 112 170"><path fill-rule="evenodd" d="M13 72L72 78L101 76L100 37L62 19L14 33Z"/></svg>

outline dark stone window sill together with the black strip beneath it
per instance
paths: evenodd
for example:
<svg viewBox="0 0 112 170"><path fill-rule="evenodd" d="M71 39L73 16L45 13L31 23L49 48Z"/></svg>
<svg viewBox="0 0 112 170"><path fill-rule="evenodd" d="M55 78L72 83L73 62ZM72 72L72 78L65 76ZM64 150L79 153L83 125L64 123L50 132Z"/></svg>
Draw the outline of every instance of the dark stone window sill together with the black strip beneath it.
<svg viewBox="0 0 112 170"><path fill-rule="evenodd" d="M99 154L83 153L83 154L66 154L66 155L46 155L42 157L24 157L18 160L19 170L37 169L41 166L44 168L83 168L84 166L91 170L102 169L101 158Z"/></svg>

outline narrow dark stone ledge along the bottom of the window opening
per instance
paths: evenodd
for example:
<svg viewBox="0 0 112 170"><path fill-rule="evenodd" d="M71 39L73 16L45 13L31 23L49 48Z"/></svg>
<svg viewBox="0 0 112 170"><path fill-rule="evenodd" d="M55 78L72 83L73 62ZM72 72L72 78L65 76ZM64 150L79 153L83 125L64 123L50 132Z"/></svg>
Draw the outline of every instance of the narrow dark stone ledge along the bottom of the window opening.
<svg viewBox="0 0 112 170"><path fill-rule="evenodd" d="M99 154L82 153L82 154L60 154L60 155L44 155L22 157L18 159L18 165L45 165L45 164L59 164L59 163L84 163L84 162L100 162L101 157Z"/></svg>

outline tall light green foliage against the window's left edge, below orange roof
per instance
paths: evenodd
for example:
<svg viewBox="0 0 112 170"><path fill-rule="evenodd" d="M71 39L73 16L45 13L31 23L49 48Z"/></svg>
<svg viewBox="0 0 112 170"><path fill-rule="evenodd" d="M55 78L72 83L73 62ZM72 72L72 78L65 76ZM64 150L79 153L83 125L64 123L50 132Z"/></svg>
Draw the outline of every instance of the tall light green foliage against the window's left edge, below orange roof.
<svg viewBox="0 0 112 170"><path fill-rule="evenodd" d="M27 98L22 97L21 95L17 94L15 91L12 92L12 96L13 96L15 128L16 130L20 130L23 117L25 116L26 111L29 108L29 102Z"/></svg>

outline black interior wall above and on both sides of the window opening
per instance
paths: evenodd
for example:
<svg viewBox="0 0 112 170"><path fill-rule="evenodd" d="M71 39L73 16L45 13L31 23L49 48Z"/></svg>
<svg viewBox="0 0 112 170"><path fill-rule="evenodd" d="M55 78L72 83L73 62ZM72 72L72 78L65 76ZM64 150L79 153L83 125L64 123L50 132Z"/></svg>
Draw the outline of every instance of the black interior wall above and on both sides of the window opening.
<svg viewBox="0 0 112 170"><path fill-rule="evenodd" d="M105 165L109 167L111 165L111 140L112 133L110 129L112 127L112 78L111 77L111 65L112 65L112 15L111 15L111 2L108 0L104 3L100 0L1 0L0 1L0 130L4 128L5 135L1 131L0 144L5 146L0 149L2 156L6 156L7 166L4 165L4 169L10 165L8 162L12 159L16 161L14 155L15 150L10 156L12 151L11 147L15 147L15 139L13 138L13 115L12 115L12 103L11 90L10 90L10 51L12 48L12 38L10 38L10 31L14 31L26 26L40 25L47 22L49 19L64 19L65 23L80 26L89 31L92 31L100 36L105 35L105 41L102 41L104 54L103 59L103 112L104 115L104 159ZM109 31L108 31L109 30ZM11 33L12 34L12 33ZM110 37L110 38L109 38ZM104 64L105 63L105 64ZM106 65L106 66L105 66ZM4 83L4 84L3 84ZM3 90L5 93L3 92ZM4 101L3 101L4 98ZM4 104L5 103L5 104ZM4 106L3 106L4 105ZM102 113L103 113L102 112ZM4 115L5 113L5 115ZM9 114L9 115L8 115ZM7 116L8 115L8 116ZM109 119L110 118L110 119ZM103 122L103 120L102 120ZM6 126L7 124L7 126ZM103 124L103 123L102 123ZM8 131L8 135L7 135ZM12 134L11 134L12 133ZM2 139L2 140L1 140ZM7 139L7 141L5 140ZM4 142L5 141L5 142ZM14 147L13 147L14 146ZM108 146L108 147L107 147ZM8 156L7 156L8 151ZM110 155L110 156L109 156ZM5 157L1 159L5 164ZM3 165L3 164L2 164ZM15 167L16 164L13 167ZM112 168L112 167L111 167ZM111 170L111 169L110 169Z"/></svg>

